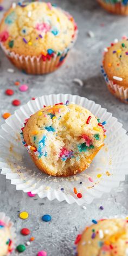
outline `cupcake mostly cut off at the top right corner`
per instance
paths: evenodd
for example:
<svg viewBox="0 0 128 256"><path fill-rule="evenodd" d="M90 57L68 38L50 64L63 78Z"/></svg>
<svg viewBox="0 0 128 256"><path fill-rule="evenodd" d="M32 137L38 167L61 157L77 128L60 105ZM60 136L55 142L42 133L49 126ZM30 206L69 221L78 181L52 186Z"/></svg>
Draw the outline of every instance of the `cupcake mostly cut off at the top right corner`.
<svg viewBox="0 0 128 256"><path fill-rule="evenodd" d="M127 0L98 0L101 7L113 14L128 15Z"/></svg>

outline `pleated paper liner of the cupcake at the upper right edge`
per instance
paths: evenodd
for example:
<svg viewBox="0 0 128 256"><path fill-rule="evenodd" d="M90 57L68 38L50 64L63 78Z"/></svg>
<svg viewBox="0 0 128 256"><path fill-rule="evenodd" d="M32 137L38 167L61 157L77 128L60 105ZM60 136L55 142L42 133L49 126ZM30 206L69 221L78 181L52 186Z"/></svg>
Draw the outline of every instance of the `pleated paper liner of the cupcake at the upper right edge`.
<svg viewBox="0 0 128 256"><path fill-rule="evenodd" d="M108 76L105 73L103 66L101 66L101 73L104 76L108 90L118 99L128 104L128 88L124 89L123 86L119 86L118 84L113 84L113 81L108 79Z"/></svg>

